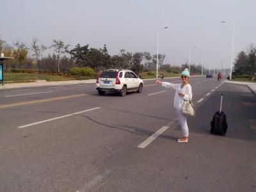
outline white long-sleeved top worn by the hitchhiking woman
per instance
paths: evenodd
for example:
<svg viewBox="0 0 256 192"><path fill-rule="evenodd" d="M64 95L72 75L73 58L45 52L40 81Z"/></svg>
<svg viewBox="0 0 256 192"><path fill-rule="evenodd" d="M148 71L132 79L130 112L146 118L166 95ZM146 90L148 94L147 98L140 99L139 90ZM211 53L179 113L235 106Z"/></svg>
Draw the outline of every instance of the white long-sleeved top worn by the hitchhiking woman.
<svg viewBox="0 0 256 192"><path fill-rule="evenodd" d="M176 109L180 109L184 99L185 100L192 100L192 88L190 84L186 84L183 88L181 88L181 83L175 84L175 83L168 83L168 82L162 82L162 86L166 88L174 88L176 90L175 97L174 97L174 103L173 106ZM185 93L184 97L180 96L178 93L183 92Z"/></svg>

